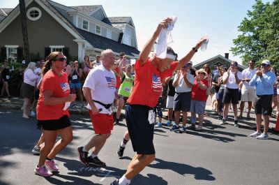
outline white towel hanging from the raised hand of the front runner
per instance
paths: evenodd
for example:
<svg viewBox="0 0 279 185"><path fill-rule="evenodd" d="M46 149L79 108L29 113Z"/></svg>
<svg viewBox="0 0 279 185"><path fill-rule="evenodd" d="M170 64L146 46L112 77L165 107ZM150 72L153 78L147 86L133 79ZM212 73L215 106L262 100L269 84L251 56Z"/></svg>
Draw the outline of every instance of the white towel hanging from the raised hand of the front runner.
<svg viewBox="0 0 279 185"><path fill-rule="evenodd" d="M158 41L156 45L156 57L160 59L165 59L167 57L167 45L172 43L172 34L171 31L174 29L174 23L177 20L177 17L169 17L172 19L167 29L162 29L158 36Z"/></svg>

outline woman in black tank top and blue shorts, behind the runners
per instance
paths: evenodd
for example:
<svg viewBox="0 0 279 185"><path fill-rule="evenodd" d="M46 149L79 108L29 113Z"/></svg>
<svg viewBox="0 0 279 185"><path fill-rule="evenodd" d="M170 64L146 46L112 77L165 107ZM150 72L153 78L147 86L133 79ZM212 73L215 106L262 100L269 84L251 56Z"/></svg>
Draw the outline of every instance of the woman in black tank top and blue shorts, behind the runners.
<svg viewBox="0 0 279 185"><path fill-rule="evenodd" d="M83 96L82 96L82 83L80 79L82 78L82 69L79 66L78 61L74 61L74 66L72 66L72 70L70 71L70 93L71 94L78 94L80 97L80 101L82 101L82 108L84 107L83 104ZM73 103L72 107L75 106Z"/></svg>

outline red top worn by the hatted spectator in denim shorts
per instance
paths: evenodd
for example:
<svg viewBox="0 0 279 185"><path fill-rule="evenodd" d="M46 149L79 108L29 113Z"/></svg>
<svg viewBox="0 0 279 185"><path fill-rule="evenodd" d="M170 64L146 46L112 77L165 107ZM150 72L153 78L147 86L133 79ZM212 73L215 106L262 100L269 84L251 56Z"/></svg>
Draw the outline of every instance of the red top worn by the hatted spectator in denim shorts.
<svg viewBox="0 0 279 185"><path fill-rule="evenodd" d="M199 81L201 84L205 84L206 87L209 87L209 81L204 79ZM192 87L192 91L191 91L191 98L194 101L206 101L206 89L202 90L198 87L197 85L197 81L194 80L194 85Z"/></svg>

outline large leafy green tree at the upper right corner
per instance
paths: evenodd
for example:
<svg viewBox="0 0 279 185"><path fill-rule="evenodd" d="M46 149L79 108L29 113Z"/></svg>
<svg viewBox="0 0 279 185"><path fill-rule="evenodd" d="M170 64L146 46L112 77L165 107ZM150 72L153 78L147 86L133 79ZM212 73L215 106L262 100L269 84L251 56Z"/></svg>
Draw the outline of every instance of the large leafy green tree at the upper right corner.
<svg viewBox="0 0 279 185"><path fill-rule="evenodd" d="M232 53L241 55L245 65L250 59L257 64L270 59L279 67L279 0L265 4L256 0L247 15L238 27L242 34L233 40Z"/></svg>

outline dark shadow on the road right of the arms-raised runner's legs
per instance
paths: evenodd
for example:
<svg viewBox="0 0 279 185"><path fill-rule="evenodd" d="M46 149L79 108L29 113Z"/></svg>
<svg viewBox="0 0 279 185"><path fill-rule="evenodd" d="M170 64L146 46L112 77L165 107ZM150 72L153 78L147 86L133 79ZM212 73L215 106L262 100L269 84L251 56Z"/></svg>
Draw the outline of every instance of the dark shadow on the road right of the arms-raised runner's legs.
<svg viewBox="0 0 279 185"><path fill-rule="evenodd" d="M180 175L194 175L195 179L198 180L206 180L206 181L214 181L216 180L215 177L211 176L212 172L206 170L205 168L201 167L193 167L190 165L182 164L182 163L174 163L171 161L163 161L160 158L156 158L155 161L158 163L149 165L150 168L158 168L161 170L172 170Z"/></svg>

